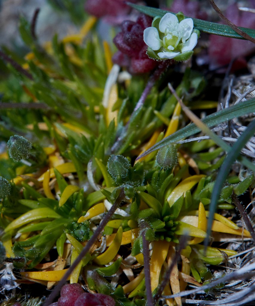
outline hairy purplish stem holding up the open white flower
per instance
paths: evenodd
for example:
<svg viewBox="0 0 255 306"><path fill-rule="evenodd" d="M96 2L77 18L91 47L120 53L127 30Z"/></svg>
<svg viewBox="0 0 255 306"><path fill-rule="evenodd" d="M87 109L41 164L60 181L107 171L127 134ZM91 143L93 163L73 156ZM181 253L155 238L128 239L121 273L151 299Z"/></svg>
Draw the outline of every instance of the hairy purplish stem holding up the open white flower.
<svg viewBox="0 0 255 306"><path fill-rule="evenodd" d="M170 60L161 62L158 66L158 68L154 71L154 73L149 77L148 83L144 88L144 91L140 97L140 99L137 102L137 105L135 106L129 121L127 122L126 126L124 127L121 135L118 137L118 139L115 141L114 145L111 147L111 152L115 153L118 151L119 147L121 146L123 140L126 138L126 133L129 127L129 123L132 121L132 118L136 115L137 111L141 109L141 107L144 105L144 102L150 93L152 87L155 85L155 82L159 79L161 74L167 69L168 65L171 63Z"/></svg>

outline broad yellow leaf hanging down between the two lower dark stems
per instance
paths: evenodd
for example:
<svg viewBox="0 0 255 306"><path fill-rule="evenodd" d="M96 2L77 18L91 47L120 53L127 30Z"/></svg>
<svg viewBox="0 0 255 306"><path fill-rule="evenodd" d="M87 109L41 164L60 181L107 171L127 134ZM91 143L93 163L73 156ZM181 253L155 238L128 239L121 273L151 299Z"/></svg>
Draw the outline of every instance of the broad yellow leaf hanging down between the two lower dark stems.
<svg viewBox="0 0 255 306"><path fill-rule="evenodd" d="M154 242L152 257L150 260L150 276L152 291L157 288L159 284L159 275L163 263L167 257L169 242L159 240Z"/></svg>

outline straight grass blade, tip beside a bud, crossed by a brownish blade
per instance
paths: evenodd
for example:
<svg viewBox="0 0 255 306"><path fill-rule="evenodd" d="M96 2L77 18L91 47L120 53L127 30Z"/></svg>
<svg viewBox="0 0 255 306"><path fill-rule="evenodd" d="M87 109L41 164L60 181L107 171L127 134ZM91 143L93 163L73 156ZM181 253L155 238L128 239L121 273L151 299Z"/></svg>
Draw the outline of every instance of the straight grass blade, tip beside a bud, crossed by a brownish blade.
<svg viewBox="0 0 255 306"><path fill-rule="evenodd" d="M224 110L220 110L216 113L210 114L207 117L205 117L202 121L210 128L224 121L228 121L233 118L254 112L255 112L255 98L252 98L242 103L238 103L236 105L225 108ZM179 140L192 136L200 131L201 130L194 123L191 123L185 126L184 128L178 130L177 132L173 133L172 135L159 141L157 144L155 144L147 151L145 151L143 154L141 154L139 158L153 151L156 151L164 146L167 146L169 144L175 143Z"/></svg>

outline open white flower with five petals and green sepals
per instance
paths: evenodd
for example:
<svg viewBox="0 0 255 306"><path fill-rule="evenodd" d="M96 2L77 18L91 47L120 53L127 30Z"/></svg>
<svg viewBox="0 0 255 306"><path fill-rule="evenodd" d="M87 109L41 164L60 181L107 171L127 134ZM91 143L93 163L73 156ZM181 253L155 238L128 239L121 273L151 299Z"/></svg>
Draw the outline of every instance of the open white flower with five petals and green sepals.
<svg viewBox="0 0 255 306"><path fill-rule="evenodd" d="M172 13L166 13L162 18L155 17L152 27L144 30L149 57L183 61L193 54L199 31L193 30L191 18L185 18L182 13L178 13L178 17Z"/></svg>

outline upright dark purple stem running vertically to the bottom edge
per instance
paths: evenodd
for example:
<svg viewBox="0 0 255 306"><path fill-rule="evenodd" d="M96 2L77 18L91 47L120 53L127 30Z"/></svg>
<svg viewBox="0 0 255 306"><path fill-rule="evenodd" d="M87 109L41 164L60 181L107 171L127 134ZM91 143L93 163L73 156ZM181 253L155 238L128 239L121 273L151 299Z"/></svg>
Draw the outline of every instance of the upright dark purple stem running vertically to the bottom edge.
<svg viewBox="0 0 255 306"><path fill-rule="evenodd" d="M145 277L145 288L147 295L147 305L153 306L152 300L152 287L151 287L151 275L150 275L150 252L149 252L149 241L145 238L145 231L148 228L147 222L144 220L140 223L140 228L142 230L142 240L143 240L143 255L144 255L144 277Z"/></svg>

